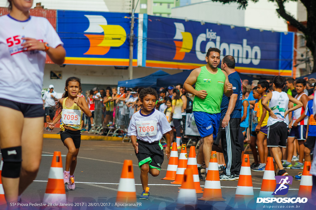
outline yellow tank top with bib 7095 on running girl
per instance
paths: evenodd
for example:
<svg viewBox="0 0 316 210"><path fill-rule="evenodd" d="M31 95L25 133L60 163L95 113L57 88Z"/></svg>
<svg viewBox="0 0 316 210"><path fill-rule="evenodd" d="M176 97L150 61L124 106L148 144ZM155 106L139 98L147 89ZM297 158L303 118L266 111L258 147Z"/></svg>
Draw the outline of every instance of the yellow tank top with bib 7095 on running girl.
<svg viewBox="0 0 316 210"><path fill-rule="evenodd" d="M76 130L81 130L81 121L82 121L82 110L76 103L74 103L71 107L66 106L65 98L63 101L63 110L61 112L61 123L60 123L60 130L64 131L64 125L70 128L74 128ZM79 117L80 116L80 117Z"/></svg>

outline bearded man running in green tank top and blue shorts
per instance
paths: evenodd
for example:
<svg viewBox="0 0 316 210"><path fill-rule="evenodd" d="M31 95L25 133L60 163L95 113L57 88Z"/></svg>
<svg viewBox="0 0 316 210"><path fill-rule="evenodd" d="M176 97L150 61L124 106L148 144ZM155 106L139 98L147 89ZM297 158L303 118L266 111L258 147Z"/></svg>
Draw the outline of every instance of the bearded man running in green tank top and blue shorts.
<svg viewBox="0 0 316 210"><path fill-rule="evenodd" d="M229 83L226 72L217 68L220 63L220 54L221 51L218 48L209 48L205 57L207 65L194 69L183 85L187 92L195 95L193 114L197 129L204 139L199 153L204 154L206 172L209 167L213 139L216 139L221 119L222 96L225 94L230 97L233 94L233 86ZM195 88L193 88L194 84ZM200 161L198 158L199 174L200 164L202 164Z"/></svg>

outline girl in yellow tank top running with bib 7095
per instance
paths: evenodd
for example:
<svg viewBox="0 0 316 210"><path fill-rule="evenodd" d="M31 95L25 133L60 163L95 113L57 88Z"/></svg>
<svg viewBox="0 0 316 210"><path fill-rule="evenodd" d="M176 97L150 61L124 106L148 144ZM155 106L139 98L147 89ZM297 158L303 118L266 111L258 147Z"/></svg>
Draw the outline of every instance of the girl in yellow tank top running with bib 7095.
<svg viewBox="0 0 316 210"><path fill-rule="evenodd" d="M81 143L82 112L91 117L91 111L83 97L78 97L81 90L81 82L77 77L69 77L66 80L65 93L59 100L59 109L62 111L58 117L48 123L49 128L54 129L56 122L62 119L60 124L60 138L68 149L66 167L64 171L64 184L68 190L75 189L74 172L77 165L77 155Z"/></svg>

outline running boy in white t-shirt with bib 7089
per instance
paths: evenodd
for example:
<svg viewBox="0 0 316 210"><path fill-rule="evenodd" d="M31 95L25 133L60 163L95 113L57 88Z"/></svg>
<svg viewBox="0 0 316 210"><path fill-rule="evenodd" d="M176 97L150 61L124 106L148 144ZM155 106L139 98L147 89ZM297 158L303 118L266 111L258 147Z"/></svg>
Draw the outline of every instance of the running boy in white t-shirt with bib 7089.
<svg viewBox="0 0 316 210"><path fill-rule="evenodd" d="M164 154L160 139L164 134L167 139L166 155L168 159L170 157L171 127L167 117L155 110L157 99L157 92L153 88L144 88L140 91L139 102L143 108L133 114L127 133L131 136L141 170L143 192L140 199L145 200L149 198L148 173L155 177L161 170Z"/></svg>

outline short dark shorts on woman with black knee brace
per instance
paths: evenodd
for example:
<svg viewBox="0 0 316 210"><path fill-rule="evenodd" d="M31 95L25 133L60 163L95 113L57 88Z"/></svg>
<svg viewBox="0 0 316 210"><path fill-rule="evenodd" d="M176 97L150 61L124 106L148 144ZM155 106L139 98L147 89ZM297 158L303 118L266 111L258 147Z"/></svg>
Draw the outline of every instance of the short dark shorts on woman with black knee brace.
<svg viewBox="0 0 316 210"><path fill-rule="evenodd" d="M43 104L24 104L8 99L0 99L0 106L5 106L17 111L21 111L25 118L44 116Z"/></svg>

